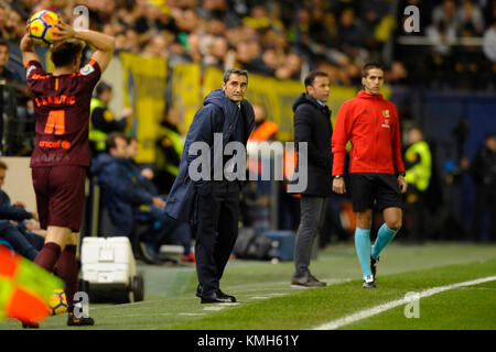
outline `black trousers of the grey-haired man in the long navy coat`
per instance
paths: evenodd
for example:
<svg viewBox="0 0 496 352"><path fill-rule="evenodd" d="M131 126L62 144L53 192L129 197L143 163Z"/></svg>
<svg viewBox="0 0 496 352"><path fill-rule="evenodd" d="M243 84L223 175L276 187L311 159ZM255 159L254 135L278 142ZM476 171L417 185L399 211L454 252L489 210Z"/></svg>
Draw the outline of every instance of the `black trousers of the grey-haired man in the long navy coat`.
<svg viewBox="0 0 496 352"><path fill-rule="evenodd" d="M202 295L219 289L238 237L238 182L213 182L208 195L198 195L195 257Z"/></svg>

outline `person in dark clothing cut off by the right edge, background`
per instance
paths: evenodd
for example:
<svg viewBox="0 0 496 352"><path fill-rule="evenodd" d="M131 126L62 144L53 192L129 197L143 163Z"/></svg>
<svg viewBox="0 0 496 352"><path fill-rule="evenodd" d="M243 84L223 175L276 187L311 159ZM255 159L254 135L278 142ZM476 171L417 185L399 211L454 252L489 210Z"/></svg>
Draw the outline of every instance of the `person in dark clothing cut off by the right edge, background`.
<svg viewBox="0 0 496 352"><path fill-rule="evenodd" d="M488 134L471 165L475 184L472 239L484 239L484 220L489 215L489 241L496 241L496 134Z"/></svg>

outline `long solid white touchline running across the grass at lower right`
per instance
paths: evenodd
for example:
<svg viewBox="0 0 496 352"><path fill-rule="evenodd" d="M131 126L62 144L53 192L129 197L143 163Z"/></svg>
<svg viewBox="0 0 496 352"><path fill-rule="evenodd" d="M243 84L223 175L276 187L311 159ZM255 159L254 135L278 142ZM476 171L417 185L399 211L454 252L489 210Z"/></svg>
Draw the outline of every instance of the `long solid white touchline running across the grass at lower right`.
<svg viewBox="0 0 496 352"><path fill-rule="evenodd" d="M478 284L492 282L492 280L496 280L496 276L481 277L481 278L473 279L470 282L446 285L446 286L432 287L432 288L429 288L429 289L425 289L425 290L419 293L419 295L416 295L414 299L429 297L429 296L432 296L432 295L435 295L435 294L439 294L439 293L442 293L442 292L445 292L449 289L457 288L457 287L478 285ZM382 304L382 305L379 305L379 306L376 306L373 308L366 308L358 312L349 315L347 317L332 320L330 322L317 326L317 327L313 328L313 330L335 330L343 326L349 324L352 322L355 322L355 321L358 321L358 320L362 320L365 318L369 318L371 316L378 315L382 311L392 309L392 308L401 306L401 305L406 305L406 304L410 302L412 299L413 299L412 297L402 298L402 299L392 300L392 301L389 301L389 302L386 302L386 304Z"/></svg>

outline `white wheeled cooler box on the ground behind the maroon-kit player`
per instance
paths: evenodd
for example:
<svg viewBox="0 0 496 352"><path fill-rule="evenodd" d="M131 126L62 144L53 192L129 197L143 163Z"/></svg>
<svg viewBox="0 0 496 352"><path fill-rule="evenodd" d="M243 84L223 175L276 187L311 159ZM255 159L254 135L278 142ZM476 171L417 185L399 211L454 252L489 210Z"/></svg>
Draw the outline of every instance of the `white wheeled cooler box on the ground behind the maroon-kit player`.
<svg viewBox="0 0 496 352"><path fill-rule="evenodd" d="M128 238L84 238L80 262L79 289L87 292L90 299L108 296L112 301L143 300L143 278L136 272Z"/></svg>

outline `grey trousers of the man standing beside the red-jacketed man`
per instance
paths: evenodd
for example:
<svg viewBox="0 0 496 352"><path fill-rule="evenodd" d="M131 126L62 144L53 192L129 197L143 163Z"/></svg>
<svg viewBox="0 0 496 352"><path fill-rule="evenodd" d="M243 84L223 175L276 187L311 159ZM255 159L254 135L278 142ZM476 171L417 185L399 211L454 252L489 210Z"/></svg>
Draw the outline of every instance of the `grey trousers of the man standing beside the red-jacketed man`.
<svg viewBox="0 0 496 352"><path fill-rule="evenodd" d="M313 241L322 230L326 198L301 197L301 221L294 245L294 274L295 278L309 278L310 256Z"/></svg>

